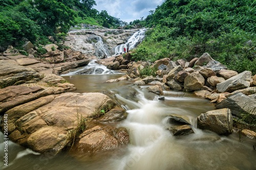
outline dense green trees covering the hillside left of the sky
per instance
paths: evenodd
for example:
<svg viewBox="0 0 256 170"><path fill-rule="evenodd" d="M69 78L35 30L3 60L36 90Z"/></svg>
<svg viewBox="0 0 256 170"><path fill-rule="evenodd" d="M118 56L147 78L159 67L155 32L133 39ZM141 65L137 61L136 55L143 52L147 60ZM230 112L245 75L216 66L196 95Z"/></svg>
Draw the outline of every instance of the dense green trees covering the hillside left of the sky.
<svg viewBox="0 0 256 170"><path fill-rule="evenodd" d="M107 28L123 23L94 5L94 0L0 0L0 52L8 45L21 48L23 38L43 45L49 43L47 36L58 41L79 23Z"/></svg>

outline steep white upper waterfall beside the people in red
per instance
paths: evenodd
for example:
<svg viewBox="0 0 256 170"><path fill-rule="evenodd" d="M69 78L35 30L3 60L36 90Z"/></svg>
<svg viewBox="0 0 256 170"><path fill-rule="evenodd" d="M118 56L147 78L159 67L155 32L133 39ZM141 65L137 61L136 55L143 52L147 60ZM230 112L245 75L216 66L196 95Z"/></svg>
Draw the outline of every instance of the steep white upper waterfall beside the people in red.
<svg viewBox="0 0 256 170"><path fill-rule="evenodd" d="M135 48L135 46L143 40L143 38L145 36L145 31L146 31L146 29L139 30L138 32L134 33L133 36L131 38L129 38L129 40L125 44L116 46L115 47L115 55L122 54L124 47L126 49L127 49L127 47L129 47L129 50L132 50L133 48Z"/></svg>

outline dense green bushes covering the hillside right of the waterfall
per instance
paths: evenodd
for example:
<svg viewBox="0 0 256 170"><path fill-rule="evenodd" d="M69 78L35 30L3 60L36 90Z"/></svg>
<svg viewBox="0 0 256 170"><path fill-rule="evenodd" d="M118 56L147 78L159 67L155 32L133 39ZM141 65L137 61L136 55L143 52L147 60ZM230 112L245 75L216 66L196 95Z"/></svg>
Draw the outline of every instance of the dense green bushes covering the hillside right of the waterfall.
<svg viewBox="0 0 256 170"><path fill-rule="evenodd" d="M255 0L166 0L150 13L136 20L154 26L136 49L136 60L190 60L207 52L230 69L256 74Z"/></svg>

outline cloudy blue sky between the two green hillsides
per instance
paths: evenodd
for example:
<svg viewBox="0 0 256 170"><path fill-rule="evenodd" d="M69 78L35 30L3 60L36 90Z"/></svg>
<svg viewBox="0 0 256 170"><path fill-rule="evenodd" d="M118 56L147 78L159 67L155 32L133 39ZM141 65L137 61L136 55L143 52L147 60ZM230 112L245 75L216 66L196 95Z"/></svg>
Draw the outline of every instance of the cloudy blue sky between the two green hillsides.
<svg viewBox="0 0 256 170"><path fill-rule="evenodd" d="M155 10L164 0L95 0L95 2L97 6L93 8L99 12L106 10L109 15L129 23L142 16L145 18L149 14L148 11Z"/></svg>

